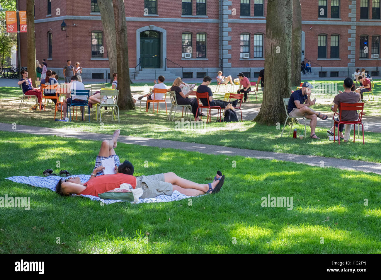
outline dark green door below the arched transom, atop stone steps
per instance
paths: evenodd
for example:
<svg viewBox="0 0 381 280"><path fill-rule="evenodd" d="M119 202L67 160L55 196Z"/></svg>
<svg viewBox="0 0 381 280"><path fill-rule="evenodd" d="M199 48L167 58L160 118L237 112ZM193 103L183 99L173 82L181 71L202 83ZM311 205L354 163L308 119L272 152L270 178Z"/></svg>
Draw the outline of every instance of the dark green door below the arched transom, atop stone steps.
<svg viewBox="0 0 381 280"><path fill-rule="evenodd" d="M160 38L140 38L141 67L160 68Z"/></svg>

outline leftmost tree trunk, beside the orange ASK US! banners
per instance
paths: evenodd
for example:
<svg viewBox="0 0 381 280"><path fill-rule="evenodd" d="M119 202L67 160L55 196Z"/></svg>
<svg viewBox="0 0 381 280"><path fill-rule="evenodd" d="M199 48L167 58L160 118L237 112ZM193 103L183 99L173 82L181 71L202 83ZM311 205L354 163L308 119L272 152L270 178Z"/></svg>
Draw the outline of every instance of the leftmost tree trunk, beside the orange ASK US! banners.
<svg viewBox="0 0 381 280"><path fill-rule="evenodd" d="M26 26L27 26L27 67L28 78L32 84L37 80L36 73L36 38L34 35L34 0L26 2Z"/></svg>

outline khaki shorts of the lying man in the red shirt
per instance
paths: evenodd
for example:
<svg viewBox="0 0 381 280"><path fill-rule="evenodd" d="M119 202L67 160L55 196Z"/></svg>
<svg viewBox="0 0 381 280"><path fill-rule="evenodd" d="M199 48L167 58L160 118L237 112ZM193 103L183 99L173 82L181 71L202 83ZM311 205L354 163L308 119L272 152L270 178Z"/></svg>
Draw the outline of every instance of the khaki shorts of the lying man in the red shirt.
<svg viewBox="0 0 381 280"><path fill-rule="evenodd" d="M136 188L143 189L143 195L140 198L153 198L158 195L172 195L172 184L164 181L164 174L155 174L149 176L136 177Z"/></svg>

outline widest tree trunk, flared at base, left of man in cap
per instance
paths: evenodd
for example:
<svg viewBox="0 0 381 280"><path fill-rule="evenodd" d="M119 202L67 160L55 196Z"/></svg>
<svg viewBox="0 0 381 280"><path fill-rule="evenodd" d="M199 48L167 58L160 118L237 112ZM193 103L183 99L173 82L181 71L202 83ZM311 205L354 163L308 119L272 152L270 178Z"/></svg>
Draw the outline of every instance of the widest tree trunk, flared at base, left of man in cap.
<svg viewBox="0 0 381 280"><path fill-rule="evenodd" d="M267 78L262 106L254 119L261 124L275 125L286 119L282 98L291 94L292 1L267 2L264 61Z"/></svg>

